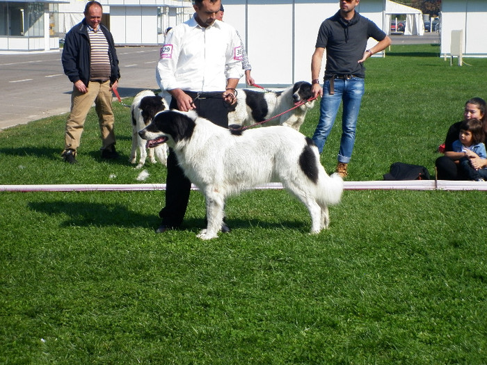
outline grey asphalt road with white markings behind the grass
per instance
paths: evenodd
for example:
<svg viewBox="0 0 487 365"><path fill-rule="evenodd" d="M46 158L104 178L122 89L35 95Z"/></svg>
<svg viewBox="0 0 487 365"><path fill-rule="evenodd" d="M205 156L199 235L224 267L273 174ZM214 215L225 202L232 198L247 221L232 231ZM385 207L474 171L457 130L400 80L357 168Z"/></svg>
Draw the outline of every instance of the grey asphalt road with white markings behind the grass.
<svg viewBox="0 0 487 365"><path fill-rule="evenodd" d="M390 37L392 45L440 43L439 33ZM159 88L155 81L159 47L118 47L117 54L120 97ZM0 129L68 113L71 92L72 83L63 74L61 51L0 55Z"/></svg>

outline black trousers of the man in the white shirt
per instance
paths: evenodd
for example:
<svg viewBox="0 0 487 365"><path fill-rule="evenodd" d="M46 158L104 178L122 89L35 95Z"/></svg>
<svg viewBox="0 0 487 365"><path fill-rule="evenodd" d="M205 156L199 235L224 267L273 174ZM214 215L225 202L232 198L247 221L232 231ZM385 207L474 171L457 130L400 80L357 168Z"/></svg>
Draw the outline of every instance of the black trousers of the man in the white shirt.
<svg viewBox="0 0 487 365"><path fill-rule="evenodd" d="M210 120L220 127L228 128L228 108L223 103L223 92L188 92L195 104L196 112L200 117ZM176 99L171 99L169 108L177 109ZM181 225L189 201L191 181L184 175L179 167L176 154L172 149L168 155L168 177L166 179L166 206L159 212L162 225L178 227Z"/></svg>

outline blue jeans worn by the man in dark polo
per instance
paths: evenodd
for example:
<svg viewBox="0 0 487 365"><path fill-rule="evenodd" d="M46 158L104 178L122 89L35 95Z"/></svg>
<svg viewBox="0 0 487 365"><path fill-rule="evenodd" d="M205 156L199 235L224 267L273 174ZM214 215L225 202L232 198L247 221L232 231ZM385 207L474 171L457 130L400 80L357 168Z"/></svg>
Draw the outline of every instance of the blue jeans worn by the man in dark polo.
<svg viewBox="0 0 487 365"><path fill-rule="evenodd" d="M348 80L335 79L334 83L335 94L333 95L330 95L330 80L326 80L323 85L319 122L312 140L318 146L321 154L325 147L326 138L328 138L335 123L340 102L343 101L342 139L340 140L340 151L337 159L338 162L349 163L355 143L358 111L360 111L362 95L365 92L365 81L360 77L353 77Z"/></svg>

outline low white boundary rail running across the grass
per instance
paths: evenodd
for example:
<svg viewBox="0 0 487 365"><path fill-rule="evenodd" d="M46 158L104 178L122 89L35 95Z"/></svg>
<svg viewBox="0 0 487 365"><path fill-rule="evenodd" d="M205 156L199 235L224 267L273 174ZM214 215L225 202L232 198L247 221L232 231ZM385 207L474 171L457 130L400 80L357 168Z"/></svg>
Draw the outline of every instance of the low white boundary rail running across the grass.
<svg viewBox="0 0 487 365"><path fill-rule="evenodd" d="M256 189L282 189L280 183L257 186ZM198 190L194 185L192 190ZM0 185L0 191L146 191L166 190L166 184L65 184L65 185ZM344 181L344 190L483 190L487 182L449 180Z"/></svg>

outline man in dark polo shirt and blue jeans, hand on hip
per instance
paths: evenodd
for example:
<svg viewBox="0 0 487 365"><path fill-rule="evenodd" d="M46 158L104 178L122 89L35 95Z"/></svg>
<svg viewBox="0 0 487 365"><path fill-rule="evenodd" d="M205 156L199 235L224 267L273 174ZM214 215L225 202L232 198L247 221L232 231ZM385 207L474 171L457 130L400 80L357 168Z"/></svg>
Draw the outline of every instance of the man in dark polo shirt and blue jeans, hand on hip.
<svg viewBox="0 0 487 365"><path fill-rule="evenodd" d="M322 97L319 122L312 140L319 152L323 152L338 108L343 102L342 139L336 168L343 178L348 175L347 166L355 143L358 112L365 92L363 63L391 43L388 35L372 20L356 12L358 3L360 0L341 0L340 10L321 23L311 60L312 92L314 97ZM367 40L371 37L378 43L366 50ZM325 77L321 88L319 73L325 50Z"/></svg>

